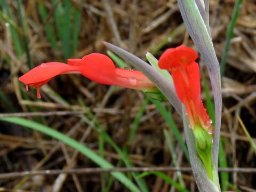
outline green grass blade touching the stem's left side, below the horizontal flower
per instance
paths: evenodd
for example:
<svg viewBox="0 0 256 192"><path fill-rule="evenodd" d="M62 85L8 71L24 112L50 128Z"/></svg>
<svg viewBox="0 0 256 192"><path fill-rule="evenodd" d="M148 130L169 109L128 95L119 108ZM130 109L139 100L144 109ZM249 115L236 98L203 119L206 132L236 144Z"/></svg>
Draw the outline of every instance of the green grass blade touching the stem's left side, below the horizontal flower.
<svg viewBox="0 0 256 192"><path fill-rule="evenodd" d="M160 101L155 100L155 99L151 99L151 98L149 98L149 100L152 103L154 103L156 108L159 110L159 112L161 113L161 115L165 119L165 122L170 127L170 130L173 132L173 134L175 135L176 139L180 143L180 146L181 146L182 150L184 151L184 153L185 153L185 155L186 155L186 157L187 157L187 159L189 161L188 149L186 147L185 141L183 140L182 134L180 133L178 127L175 125L171 114L169 113L169 111L167 111L165 109L165 107L162 105L162 103Z"/></svg>

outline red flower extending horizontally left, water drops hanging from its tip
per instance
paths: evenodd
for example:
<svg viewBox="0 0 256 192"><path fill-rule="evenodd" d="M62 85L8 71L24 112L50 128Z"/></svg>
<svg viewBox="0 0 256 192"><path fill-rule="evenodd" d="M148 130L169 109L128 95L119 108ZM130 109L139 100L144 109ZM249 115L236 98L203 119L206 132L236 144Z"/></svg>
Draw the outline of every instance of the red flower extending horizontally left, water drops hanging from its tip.
<svg viewBox="0 0 256 192"><path fill-rule="evenodd" d="M149 79L140 71L115 68L113 61L106 55L92 53L82 59L68 59L68 64L60 62L42 63L31 69L19 78L19 81L37 89L37 97L40 98L39 87L60 74L82 74L94 82L117 85L137 90L147 90L155 87Z"/></svg>

